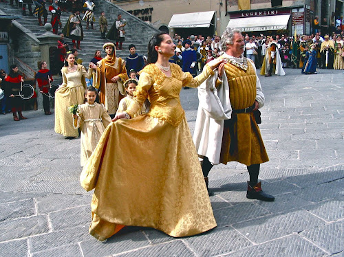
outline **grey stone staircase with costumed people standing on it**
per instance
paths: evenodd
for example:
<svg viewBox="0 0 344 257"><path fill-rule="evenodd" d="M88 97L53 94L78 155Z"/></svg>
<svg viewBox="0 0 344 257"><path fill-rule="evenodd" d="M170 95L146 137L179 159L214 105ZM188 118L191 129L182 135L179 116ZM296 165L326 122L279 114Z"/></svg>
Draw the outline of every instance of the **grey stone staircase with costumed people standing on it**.
<svg viewBox="0 0 344 257"><path fill-rule="evenodd" d="M94 27L96 28L96 30L86 30L86 22L83 21L84 40L80 44L82 50L78 51L78 57L83 60L83 64L86 67L89 61L94 57L94 52L97 49L102 50L103 44L109 41L107 39L100 38L98 19L100 16L100 12L103 10L105 11L105 16L107 17L107 22L109 24L108 30L116 21L118 13L122 14L122 19L127 20L127 26L125 27L126 36L125 42L123 43L123 50L117 51L116 56L122 58L127 57L129 55L129 50L127 49L127 47L131 43L136 45L136 52L138 52L138 54L147 55L147 44L149 42L149 39L153 34L159 32L159 30L129 14L114 3L109 3L105 0L94 0L94 3L96 5L94 13L96 17ZM48 8L50 3L47 3L46 5ZM34 9L34 5L32 5L32 8ZM16 21L12 22L17 27L17 30L20 30L21 32L19 35L20 38L18 38L17 42L18 49L14 51L14 56L19 58L28 67L32 67L34 70L36 70L36 62L41 58L38 44L39 40L36 37L45 33L44 27L39 26L36 16L22 16L21 9L17 6L11 6L9 1L8 3L0 3L0 12L21 17L21 19L17 19ZM28 14L28 8L26 12ZM50 12L48 12L48 14L49 15L47 16L47 22L50 22L51 14ZM67 23L69 15L70 12L63 12L63 14L61 15L61 23L63 27L65 23ZM81 14L80 16L83 17L83 14ZM61 30L59 29L58 33L61 32ZM68 42L71 41L69 40L69 38L65 39ZM105 56L104 52L103 56Z"/></svg>

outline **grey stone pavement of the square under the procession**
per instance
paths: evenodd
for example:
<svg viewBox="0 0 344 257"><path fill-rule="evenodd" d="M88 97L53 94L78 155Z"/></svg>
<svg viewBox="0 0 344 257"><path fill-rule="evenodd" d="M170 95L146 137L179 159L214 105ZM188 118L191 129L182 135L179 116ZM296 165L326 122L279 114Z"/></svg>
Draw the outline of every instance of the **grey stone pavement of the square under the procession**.
<svg viewBox="0 0 344 257"><path fill-rule="evenodd" d="M246 199L246 167L215 166L217 227L171 238L126 227L100 243L88 234L92 192L80 187L79 139L54 133L54 115L0 117L0 256L344 256L344 74L259 76L262 136L270 161L260 179L276 201ZM191 131L197 89L182 90Z"/></svg>

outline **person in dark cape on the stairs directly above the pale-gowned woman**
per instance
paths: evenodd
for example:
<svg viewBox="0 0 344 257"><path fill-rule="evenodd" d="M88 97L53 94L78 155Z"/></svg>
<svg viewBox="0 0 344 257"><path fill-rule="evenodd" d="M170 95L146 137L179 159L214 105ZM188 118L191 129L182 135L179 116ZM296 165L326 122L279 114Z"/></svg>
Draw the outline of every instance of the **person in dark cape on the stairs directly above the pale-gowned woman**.
<svg viewBox="0 0 344 257"><path fill-rule="evenodd" d="M73 48L80 48L80 41L84 38L83 26L81 25L80 12L75 10L73 14L69 16L69 19L63 28L63 34L67 38L71 38L73 41ZM76 45L76 41L78 45Z"/></svg>

